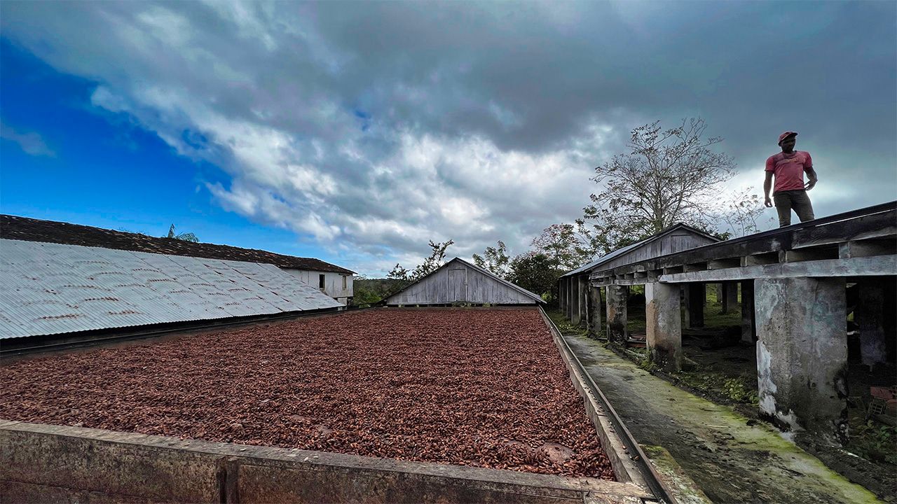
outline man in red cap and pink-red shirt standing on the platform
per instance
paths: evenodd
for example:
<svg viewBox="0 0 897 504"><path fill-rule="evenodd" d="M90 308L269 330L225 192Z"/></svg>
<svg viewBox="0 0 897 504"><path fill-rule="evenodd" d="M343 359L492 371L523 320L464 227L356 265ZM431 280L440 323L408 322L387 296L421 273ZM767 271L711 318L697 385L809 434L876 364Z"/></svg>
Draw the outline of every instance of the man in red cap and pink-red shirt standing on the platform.
<svg viewBox="0 0 897 504"><path fill-rule="evenodd" d="M779 146L782 152L771 155L766 160L766 180L763 182L763 194L766 195L766 206L772 206L770 189L772 177L776 178L775 191L772 199L776 202L776 211L779 213L779 228L791 224L791 209L793 208L800 222L812 221L813 204L810 197L806 196L816 185L816 171L813 169L813 158L809 152L795 151L797 133L786 131L779 135ZM804 172L810 181L804 184Z"/></svg>

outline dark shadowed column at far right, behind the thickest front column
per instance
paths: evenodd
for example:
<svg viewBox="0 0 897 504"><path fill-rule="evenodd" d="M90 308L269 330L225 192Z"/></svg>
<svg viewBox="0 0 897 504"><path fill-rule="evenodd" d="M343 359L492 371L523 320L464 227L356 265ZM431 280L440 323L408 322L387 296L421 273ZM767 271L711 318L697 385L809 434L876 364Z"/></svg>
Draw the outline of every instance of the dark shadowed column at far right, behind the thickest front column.
<svg viewBox="0 0 897 504"><path fill-rule="evenodd" d="M887 358L884 338L884 285L877 278L864 278L858 282L857 308L854 322L859 326L859 355L869 368ZM893 306L891 307L893 308Z"/></svg>

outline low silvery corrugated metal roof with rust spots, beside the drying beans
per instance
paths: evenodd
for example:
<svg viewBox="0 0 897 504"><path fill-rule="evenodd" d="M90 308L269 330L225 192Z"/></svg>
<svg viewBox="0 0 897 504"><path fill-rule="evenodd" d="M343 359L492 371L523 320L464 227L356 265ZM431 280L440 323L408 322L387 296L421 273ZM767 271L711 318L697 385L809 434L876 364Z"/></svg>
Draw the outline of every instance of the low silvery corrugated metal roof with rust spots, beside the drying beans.
<svg viewBox="0 0 897 504"><path fill-rule="evenodd" d="M0 239L0 339L341 306L275 265Z"/></svg>

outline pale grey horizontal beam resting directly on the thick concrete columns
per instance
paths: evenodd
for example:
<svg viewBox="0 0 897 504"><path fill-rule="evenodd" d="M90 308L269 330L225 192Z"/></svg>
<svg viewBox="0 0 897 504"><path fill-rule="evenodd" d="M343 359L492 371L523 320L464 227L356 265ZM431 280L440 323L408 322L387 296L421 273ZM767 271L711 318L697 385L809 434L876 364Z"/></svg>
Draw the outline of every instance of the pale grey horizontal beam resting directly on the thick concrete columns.
<svg viewBox="0 0 897 504"><path fill-rule="evenodd" d="M727 282L752 278L819 278L835 276L885 276L897 272L897 256L852 257L756 265L723 270L662 274L660 282Z"/></svg>

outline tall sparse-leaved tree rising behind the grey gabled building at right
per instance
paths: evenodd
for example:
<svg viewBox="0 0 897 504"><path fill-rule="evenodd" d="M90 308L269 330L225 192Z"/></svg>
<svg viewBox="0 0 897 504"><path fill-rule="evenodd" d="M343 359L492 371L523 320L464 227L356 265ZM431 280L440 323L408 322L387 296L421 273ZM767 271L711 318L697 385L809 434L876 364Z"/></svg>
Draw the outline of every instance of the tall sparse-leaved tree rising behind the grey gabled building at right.
<svg viewBox="0 0 897 504"><path fill-rule="evenodd" d="M714 150L722 139L706 137L706 130L700 118L666 130L659 121L633 129L631 152L595 169L592 180L604 190L583 209L589 245L611 252L676 222L708 230L714 221L709 202L735 175L735 161Z"/></svg>

